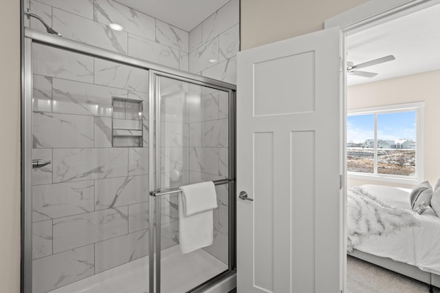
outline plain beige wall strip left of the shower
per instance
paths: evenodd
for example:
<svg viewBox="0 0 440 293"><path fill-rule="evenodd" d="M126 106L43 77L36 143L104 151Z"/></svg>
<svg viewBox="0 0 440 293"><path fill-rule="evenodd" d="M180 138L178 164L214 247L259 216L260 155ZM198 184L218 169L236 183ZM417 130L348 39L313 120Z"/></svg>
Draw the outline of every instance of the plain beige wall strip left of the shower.
<svg viewBox="0 0 440 293"><path fill-rule="evenodd" d="M1 1L0 11L0 284L20 290L20 1Z"/></svg>

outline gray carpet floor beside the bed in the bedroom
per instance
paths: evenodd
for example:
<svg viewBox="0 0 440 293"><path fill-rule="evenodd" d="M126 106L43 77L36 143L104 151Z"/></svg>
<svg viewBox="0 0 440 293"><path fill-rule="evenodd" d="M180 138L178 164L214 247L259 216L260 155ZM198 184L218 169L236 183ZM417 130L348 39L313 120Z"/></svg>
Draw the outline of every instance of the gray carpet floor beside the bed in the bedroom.
<svg viewBox="0 0 440 293"><path fill-rule="evenodd" d="M347 256L349 293L428 293L429 285L386 270L372 263ZM434 293L440 290L434 287Z"/></svg>

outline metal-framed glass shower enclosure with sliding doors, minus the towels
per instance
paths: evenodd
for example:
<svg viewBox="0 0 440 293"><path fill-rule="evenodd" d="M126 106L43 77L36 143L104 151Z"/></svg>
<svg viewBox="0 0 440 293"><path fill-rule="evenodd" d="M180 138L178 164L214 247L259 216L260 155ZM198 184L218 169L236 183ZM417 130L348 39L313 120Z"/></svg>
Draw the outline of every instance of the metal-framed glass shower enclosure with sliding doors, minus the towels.
<svg viewBox="0 0 440 293"><path fill-rule="evenodd" d="M24 292L203 292L235 270L235 86L25 30ZM214 181L179 251L179 186Z"/></svg>

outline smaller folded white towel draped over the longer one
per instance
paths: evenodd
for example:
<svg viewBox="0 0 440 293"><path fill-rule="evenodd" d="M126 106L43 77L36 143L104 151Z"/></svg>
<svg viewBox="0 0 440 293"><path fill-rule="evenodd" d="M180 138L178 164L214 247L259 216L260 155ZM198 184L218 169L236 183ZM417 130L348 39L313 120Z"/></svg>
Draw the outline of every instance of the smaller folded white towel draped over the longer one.
<svg viewBox="0 0 440 293"><path fill-rule="evenodd" d="M186 216L217 208L217 194L212 181L181 186L180 190Z"/></svg>

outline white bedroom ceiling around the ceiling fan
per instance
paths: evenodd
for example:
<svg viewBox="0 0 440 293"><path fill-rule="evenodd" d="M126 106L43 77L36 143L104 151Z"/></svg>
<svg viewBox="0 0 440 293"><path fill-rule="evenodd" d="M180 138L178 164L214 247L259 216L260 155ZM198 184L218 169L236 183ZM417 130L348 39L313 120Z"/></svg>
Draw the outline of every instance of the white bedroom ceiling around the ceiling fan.
<svg viewBox="0 0 440 293"><path fill-rule="evenodd" d="M373 78L349 74L347 85L440 69L439 15L436 5L347 36L347 60L355 65L395 56L394 61L360 69L377 73Z"/></svg>

